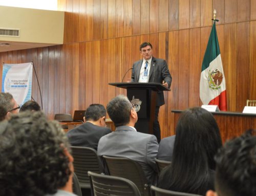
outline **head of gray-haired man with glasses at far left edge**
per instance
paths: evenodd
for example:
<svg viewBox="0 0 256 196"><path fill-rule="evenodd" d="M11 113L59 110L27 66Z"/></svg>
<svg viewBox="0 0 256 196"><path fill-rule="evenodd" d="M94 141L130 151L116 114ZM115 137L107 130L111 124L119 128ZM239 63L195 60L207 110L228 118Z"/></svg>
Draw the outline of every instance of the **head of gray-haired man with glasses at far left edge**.
<svg viewBox="0 0 256 196"><path fill-rule="evenodd" d="M5 115L1 114L2 118L4 116L5 119L9 119L11 114L18 113L19 105L10 93L0 93L0 106L4 108L1 112L6 111Z"/></svg>

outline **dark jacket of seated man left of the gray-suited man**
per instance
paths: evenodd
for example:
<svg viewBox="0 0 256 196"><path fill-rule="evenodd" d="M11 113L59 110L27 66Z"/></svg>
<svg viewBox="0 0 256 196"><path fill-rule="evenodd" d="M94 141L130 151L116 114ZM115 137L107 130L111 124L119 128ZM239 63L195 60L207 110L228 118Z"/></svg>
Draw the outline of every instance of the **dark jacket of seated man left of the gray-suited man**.
<svg viewBox="0 0 256 196"><path fill-rule="evenodd" d="M90 147L97 150L99 139L109 133L111 133L111 129L108 127L86 122L69 130L67 136L72 146Z"/></svg>

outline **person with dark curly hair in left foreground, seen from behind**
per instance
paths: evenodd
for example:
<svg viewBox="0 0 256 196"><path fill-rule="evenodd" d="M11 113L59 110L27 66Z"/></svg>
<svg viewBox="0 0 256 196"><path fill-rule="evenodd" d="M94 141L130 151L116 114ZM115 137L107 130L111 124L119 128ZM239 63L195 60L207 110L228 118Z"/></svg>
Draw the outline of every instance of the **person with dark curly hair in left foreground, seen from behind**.
<svg viewBox="0 0 256 196"><path fill-rule="evenodd" d="M0 123L0 160L0 195L74 195L68 138L42 112Z"/></svg>

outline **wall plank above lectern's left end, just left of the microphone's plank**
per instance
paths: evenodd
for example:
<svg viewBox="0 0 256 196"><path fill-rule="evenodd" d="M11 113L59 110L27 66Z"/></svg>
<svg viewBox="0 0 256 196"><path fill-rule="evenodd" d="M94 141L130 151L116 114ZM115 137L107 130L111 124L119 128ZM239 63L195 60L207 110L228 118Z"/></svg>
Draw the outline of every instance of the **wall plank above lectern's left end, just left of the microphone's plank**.
<svg viewBox="0 0 256 196"><path fill-rule="evenodd" d="M116 58L115 58L115 82L121 82L123 76L123 38L116 38ZM123 94L121 88L115 88L115 95Z"/></svg>

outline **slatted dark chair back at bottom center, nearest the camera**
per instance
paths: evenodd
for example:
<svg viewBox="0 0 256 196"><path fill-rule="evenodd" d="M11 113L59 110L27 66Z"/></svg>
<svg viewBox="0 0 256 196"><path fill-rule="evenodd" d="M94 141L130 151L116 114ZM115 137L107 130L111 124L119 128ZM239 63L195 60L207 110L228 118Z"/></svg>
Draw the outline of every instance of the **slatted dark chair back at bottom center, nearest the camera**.
<svg viewBox="0 0 256 196"><path fill-rule="evenodd" d="M95 196L140 196L139 189L136 185L127 179L102 175L88 171L91 179L92 195Z"/></svg>

